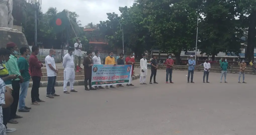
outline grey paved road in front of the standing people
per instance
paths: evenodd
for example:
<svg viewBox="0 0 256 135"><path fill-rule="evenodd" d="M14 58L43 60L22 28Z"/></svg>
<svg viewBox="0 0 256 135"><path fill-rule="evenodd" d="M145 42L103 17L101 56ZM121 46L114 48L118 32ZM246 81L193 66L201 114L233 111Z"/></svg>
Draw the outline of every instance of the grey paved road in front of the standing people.
<svg viewBox="0 0 256 135"><path fill-rule="evenodd" d="M148 72L150 74L150 71ZM63 94L46 99L40 106L26 104L29 113L8 135L253 135L256 128L256 90L253 75L238 84L238 74L228 74L228 84L219 83L219 73L210 73L210 84L202 83L203 72L195 72L187 83L187 72L174 71L174 84L165 84L165 72L157 72L159 84ZM149 80L147 76L147 81Z"/></svg>

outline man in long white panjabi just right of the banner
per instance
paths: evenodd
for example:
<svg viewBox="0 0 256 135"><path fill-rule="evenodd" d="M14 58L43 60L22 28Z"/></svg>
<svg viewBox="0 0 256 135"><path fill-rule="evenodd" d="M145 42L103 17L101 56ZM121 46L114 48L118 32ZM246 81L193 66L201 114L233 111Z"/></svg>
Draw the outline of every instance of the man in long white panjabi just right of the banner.
<svg viewBox="0 0 256 135"><path fill-rule="evenodd" d="M141 75L140 75L140 84L146 84L146 75L147 75L147 60L146 60L146 54L143 54L143 58L140 61L141 66Z"/></svg>

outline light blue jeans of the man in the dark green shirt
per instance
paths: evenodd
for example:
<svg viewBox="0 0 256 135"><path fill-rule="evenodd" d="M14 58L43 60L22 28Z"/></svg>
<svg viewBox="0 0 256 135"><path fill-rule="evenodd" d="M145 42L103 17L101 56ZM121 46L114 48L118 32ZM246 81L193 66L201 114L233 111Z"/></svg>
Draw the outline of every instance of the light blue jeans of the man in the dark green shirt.
<svg viewBox="0 0 256 135"><path fill-rule="evenodd" d="M25 107L25 98L28 92L29 81L20 83L20 94L19 94L19 109L22 110Z"/></svg>

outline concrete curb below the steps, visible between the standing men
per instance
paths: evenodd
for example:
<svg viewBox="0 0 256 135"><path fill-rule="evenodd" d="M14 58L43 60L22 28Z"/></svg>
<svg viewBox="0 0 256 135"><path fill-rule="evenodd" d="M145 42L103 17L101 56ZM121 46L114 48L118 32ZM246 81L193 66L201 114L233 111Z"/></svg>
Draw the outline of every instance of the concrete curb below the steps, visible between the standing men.
<svg viewBox="0 0 256 135"><path fill-rule="evenodd" d="M132 76L132 80L136 80L138 78L140 78L140 74L136 74L136 75ZM28 87L31 88L32 85L33 85L33 82L29 82ZM75 80L74 86L78 86L78 85L84 85L84 81L83 80L78 80L78 81ZM62 82L56 81L55 87L58 87L58 86L63 86L63 81ZM67 86L69 86L69 82L68 82ZM47 87L47 82L43 82L43 83L40 82L40 87Z"/></svg>

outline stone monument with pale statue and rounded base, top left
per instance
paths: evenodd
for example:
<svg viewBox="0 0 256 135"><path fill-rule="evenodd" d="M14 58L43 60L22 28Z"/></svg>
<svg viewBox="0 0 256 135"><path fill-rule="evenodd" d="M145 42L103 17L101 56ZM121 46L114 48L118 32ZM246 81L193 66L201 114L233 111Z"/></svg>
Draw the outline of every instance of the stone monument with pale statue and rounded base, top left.
<svg viewBox="0 0 256 135"><path fill-rule="evenodd" d="M8 42L14 42L18 48L28 47L24 33L13 29L13 0L0 0L0 47L6 47Z"/></svg>

